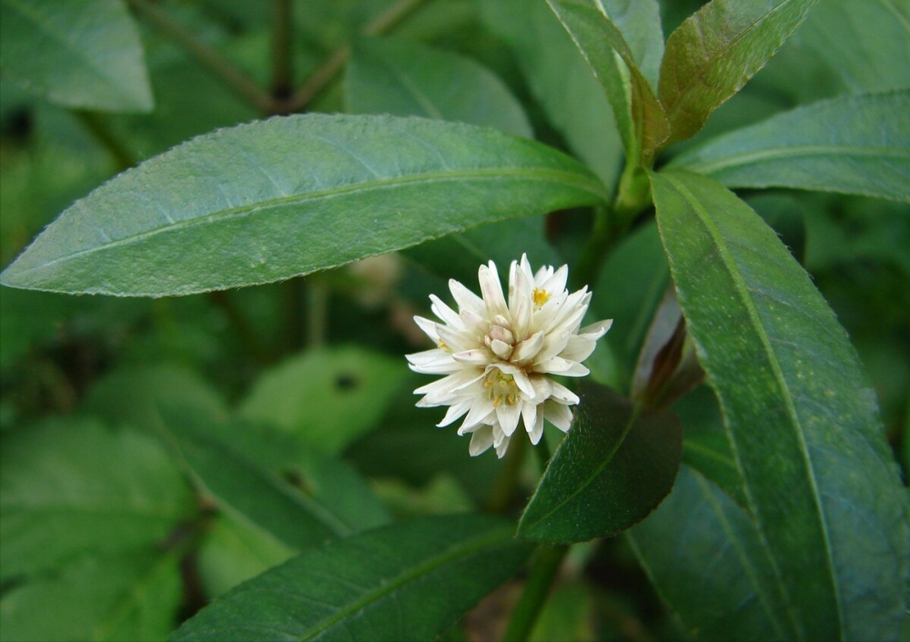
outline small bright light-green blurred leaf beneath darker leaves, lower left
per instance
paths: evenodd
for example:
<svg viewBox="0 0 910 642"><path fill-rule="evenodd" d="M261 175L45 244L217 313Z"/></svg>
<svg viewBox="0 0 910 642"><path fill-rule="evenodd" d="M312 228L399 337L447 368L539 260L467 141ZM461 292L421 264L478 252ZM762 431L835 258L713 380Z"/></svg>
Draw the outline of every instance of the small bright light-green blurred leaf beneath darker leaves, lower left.
<svg viewBox="0 0 910 642"><path fill-rule="evenodd" d="M206 595L217 597L288 561L294 554L293 548L282 544L267 531L222 514L215 518L199 545L199 578Z"/></svg>

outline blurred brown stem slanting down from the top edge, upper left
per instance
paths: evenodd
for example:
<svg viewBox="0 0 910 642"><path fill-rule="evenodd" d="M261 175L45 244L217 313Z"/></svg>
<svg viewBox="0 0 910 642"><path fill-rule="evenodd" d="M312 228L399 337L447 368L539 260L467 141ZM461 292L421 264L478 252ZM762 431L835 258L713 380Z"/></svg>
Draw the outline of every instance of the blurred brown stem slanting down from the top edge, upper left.
<svg viewBox="0 0 910 642"><path fill-rule="evenodd" d="M236 66L231 65L215 49L199 40L196 35L171 20L167 13L148 0L127 0L127 2L148 22L186 49L187 53L195 57L200 65L219 76L228 87L248 100L259 111L265 114L271 114L274 111L275 103L271 96L263 92L255 80Z"/></svg>

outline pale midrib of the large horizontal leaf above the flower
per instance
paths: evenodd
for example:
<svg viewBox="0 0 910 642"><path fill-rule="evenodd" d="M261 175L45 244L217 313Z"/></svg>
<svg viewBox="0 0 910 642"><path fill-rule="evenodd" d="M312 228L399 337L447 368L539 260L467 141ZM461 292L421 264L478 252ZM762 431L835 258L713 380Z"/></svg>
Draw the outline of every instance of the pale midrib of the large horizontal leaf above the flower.
<svg viewBox="0 0 910 642"><path fill-rule="evenodd" d="M406 185L420 185L421 183L444 183L444 182L458 182L458 181L467 181L470 179L474 180L498 180L498 179L511 179L514 177L523 178L525 180L551 180L551 182L563 183L567 186L574 186L582 191L588 192L593 196L597 196L599 200L604 200L605 196L603 194L602 187L590 179L582 180L582 176L579 176L576 173L572 173L566 170L558 169L549 169L549 168L523 168L523 167L494 167L494 168L480 168L472 170L461 170L461 171L447 171L447 172L426 172L423 174L415 174L410 176L396 176L394 178L385 178L375 181L365 181L362 183L357 183L355 185L333 187L331 189L307 192L305 194L298 194L292 196L284 196L281 198L273 198L264 201L258 201L257 203L250 204L248 206L238 206L230 207L227 209L219 210L217 212L211 212L202 216L195 216L193 218L188 218L185 220L177 221L174 224L168 224L167 226L156 227L151 230L139 232L134 235L124 236L122 238L116 239L116 241L108 242L104 245L99 245L95 247L88 247L84 250L79 250L77 252L72 252L64 256L58 256L50 261L45 261L37 266L22 267L18 268L15 272L17 275L26 275L30 272L35 272L36 270L45 269L49 266L54 266L58 263L65 263L67 261L76 260L77 258L83 256L90 256L96 252L102 252L110 250L119 246L129 246L134 243L139 243L157 236L159 234L166 234L169 232L178 231L184 228L191 228L196 226L206 225L208 223L213 223L217 221L229 220L232 218L238 218L241 216L247 216L252 212L257 212L259 210L267 210L273 207L288 206L299 203L305 203L307 201L315 201L320 199L329 199L337 196L349 196L351 194L357 194L358 192L366 192L371 190L379 189L389 189L397 186L406 186ZM13 264L15 266L15 264ZM10 266L10 267L13 267ZM9 268L7 268L8 271Z"/></svg>

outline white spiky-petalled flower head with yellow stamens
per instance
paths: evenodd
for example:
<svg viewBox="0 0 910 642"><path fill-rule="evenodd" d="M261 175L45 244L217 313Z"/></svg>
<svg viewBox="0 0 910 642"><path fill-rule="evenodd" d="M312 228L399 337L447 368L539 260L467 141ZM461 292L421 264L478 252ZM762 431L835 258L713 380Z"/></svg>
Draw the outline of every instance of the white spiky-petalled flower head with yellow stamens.
<svg viewBox="0 0 910 642"><path fill-rule="evenodd" d="M562 432L569 430L569 406L579 398L548 375L587 375L581 362L612 320L579 329L591 293L585 286L569 294L568 275L567 266L541 267L533 274L528 257L521 256L521 263L511 263L507 304L490 261L478 273L482 298L450 279L459 311L430 295L433 314L442 323L414 317L437 347L408 355L411 369L445 375L414 391L424 395L417 405L450 406L440 427L466 415L458 433L472 433L472 456L490 446L498 456L505 455L522 421L534 445L541 441L544 419Z"/></svg>

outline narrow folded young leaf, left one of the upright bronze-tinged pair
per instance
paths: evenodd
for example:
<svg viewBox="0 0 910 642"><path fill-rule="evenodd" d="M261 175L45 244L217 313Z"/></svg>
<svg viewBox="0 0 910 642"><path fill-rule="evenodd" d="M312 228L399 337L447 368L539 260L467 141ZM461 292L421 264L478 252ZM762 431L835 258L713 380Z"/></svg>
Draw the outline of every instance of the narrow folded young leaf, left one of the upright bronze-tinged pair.
<svg viewBox="0 0 910 642"><path fill-rule="evenodd" d="M657 146L670 135L670 128L622 32L588 0L547 1L600 81L626 154L648 163ZM622 68L623 64L628 71Z"/></svg>

